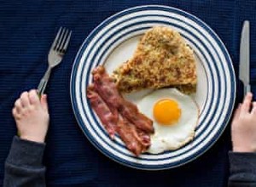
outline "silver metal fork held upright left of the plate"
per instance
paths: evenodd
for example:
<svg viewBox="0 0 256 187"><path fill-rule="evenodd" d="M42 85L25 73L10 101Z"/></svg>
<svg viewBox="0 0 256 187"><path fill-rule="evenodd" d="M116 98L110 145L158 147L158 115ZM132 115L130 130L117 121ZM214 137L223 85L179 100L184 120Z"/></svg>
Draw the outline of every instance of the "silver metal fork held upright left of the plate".
<svg viewBox="0 0 256 187"><path fill-rule="evenodd" d="M41 96L44 94L44 90L49 81L49 75L53 67L59 65L63 59L64 54L67 51L67 46L70 41L72 31L69 31L67 28L60 28L54 42L52 43L49 54L48 54L48 69L44 73L44 77L41 79L38 85L38 95Z"/></svg>

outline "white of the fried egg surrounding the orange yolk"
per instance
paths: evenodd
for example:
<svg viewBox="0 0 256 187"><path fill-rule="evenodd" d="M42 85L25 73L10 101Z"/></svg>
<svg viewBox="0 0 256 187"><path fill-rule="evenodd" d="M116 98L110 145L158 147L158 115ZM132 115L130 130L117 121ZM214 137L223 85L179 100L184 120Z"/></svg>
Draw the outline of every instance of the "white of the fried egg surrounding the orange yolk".
<svg viewBox="0 0 256 187"><path fill-rule="evenodd" d="M153 109L160 99L172 99L177 102L181 109L178 122L172 125L156 122ZM158 154L165 150L177 150L194 139L199 108L189 95L182 94L176 88L163 88L146 95L137 106L140 112L153 120L154 134L151 135L151 146L147 152Z"/></svg>

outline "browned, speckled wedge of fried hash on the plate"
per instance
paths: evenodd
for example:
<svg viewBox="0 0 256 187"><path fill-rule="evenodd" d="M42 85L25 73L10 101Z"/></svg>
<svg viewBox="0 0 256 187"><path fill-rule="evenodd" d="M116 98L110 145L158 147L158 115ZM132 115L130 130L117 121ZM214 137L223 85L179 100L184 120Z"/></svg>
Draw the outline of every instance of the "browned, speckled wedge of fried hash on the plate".
<svg viewBox="0 0 256 187"><path fill-rule="evenodd" d="M123 93L176 87L191 94L196 88L193 50L177 31L155 26L145 32L131 59L113 71L113 77Z"/></svg>

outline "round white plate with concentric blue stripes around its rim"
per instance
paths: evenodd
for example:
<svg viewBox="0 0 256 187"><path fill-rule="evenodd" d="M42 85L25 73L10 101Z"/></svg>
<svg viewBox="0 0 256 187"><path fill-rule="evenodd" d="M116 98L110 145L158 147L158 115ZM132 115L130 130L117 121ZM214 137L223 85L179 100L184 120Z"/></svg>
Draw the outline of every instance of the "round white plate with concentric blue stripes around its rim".
<svg viewBox="0 0 256 187"><path fill-rule="evenodd" d="M109 139L90 108L86 87L92 81L90 72L97 65L104 64L109 72L113 71L131 57L138 38L152 26L171 26L195 51L198 73L195 100L200 105L201 114L195 139L189 144L179 150L136 157L119 138L115 141ZM223 133L233 110L235 96L235 73L223 42L194 15L166 6L129 8L104 20L79 49L71 76L73 112L90 142L114 161L147 170L177 167L201 156Z"/></svg>

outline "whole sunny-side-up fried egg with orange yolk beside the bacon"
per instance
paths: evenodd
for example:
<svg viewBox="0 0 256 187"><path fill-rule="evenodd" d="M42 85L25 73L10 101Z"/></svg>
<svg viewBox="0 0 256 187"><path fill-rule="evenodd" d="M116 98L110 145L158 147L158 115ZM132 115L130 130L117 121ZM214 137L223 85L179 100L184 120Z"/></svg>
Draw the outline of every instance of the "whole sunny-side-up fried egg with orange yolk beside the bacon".
<svg viewBox="0 0 256 187"><path fill-rule="evenodd" d="M153 120L154 134L148 153L177 150L194 139L199 108L189 95L176 88L163 88L143 97L137 106Z"/></svg>

